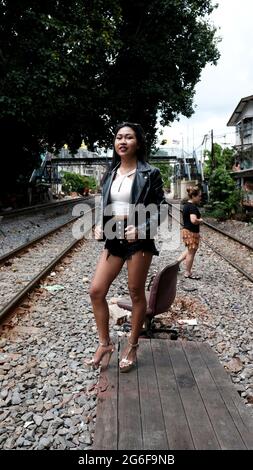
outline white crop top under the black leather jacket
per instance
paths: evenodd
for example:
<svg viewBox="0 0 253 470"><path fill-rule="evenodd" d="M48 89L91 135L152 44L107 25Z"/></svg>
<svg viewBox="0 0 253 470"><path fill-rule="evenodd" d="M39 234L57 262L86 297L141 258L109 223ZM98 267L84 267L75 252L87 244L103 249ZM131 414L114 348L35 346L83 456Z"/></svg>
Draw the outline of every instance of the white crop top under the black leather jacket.
<svg viewBox="0 0 253 470"><path fill-rule="evenodd" d="M128 176L133 175L135 172L136 169L122 175L120 169L118 169L117 178L115 178L111 186L112 215L124 216L129 214L133 178L128 178Z"/></svg>

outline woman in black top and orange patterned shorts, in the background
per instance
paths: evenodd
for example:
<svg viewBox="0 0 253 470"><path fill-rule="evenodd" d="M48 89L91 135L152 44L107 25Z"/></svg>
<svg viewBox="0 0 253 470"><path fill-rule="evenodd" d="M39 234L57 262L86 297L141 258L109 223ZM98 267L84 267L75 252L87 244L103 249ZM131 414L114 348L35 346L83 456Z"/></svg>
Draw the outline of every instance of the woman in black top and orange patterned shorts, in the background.
<svg viewBox="0 0 253 470"><path fill-rule="evenodd" d="M187 250L182 253L178 261L185 260L185 277L200 279L192 274L192 266L196 251L199 246L199 225L203 222L197 205L201 201L201 190L197 186L187 188L189 199L183 207L183 231L182 237Z"/></svg>

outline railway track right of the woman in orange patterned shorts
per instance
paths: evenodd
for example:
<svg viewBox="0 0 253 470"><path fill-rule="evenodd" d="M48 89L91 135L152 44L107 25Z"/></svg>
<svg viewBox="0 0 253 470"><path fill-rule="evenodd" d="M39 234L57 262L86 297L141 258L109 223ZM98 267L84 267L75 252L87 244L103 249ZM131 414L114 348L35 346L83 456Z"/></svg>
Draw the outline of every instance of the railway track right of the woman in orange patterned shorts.
<svg viewBox="0 0 253 470"><path fill-rule="evenodd" d="M169 206L172 205L169 203ZM201 240L253 282L253 246L209 222L204 222L201 225Z"/></svg>

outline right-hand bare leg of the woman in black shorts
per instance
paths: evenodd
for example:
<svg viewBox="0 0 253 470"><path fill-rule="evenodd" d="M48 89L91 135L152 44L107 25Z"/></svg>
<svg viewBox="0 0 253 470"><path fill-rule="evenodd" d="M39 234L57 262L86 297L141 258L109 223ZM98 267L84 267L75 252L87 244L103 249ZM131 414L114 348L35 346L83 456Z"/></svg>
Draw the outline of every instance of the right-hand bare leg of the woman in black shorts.
<svg viewBox="0 0 253 470"><path fill-rule="evenodd" d="M137 251L131 259L127 261L128 269L128 288L129 294L132 300L132 328L129 342L131 344L137 344L140 331L146 315L147 302L145 296L145 282L148 275L148 270L152 261L152 253ZM129 346L127 347L127 352ZM136 350L133 349L128 359L134 360L136 356Z"/></svg>

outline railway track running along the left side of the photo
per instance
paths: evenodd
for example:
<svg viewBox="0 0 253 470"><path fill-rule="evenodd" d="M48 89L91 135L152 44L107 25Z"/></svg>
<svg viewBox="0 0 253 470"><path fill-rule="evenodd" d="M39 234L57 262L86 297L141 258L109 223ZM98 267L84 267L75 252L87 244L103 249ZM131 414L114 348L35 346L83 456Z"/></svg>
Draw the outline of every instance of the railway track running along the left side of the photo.
<svg viewBox="0 0 253 470"><path fill-rule="evenodd" d="M86 211L81 217L90 217L94 210L95 208ZM83 232L82 238L73 239L72 224L79 218L80 216L73 217L68 222L1 257L0 321L3 321L56 264L87 235L90 228Z"/></svg>

